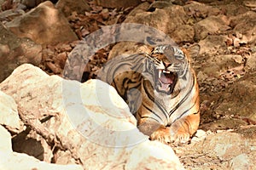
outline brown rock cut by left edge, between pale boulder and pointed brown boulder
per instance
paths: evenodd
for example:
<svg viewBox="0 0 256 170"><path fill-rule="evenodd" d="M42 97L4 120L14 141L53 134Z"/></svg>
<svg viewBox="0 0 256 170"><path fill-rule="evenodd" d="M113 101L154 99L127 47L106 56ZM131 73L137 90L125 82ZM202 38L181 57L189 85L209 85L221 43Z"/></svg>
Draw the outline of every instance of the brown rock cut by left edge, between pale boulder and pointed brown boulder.
<svg viewBox="0 0 256 170"><path fill-rule="evenodd" d="M0 82L21 64L39 65L42 60L41 51L41 45L15 36L0 23Z"/></svg>

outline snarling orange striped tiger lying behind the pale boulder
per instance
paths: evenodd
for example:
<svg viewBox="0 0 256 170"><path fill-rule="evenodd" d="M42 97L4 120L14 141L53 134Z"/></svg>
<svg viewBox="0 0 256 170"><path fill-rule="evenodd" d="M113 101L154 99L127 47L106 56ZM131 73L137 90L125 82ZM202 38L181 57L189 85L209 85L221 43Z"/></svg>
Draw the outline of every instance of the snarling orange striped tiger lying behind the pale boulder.
<svg viewBox="0 0 256 170"><path fill-rule="evenodd" d="M188 143L200 122L199 86L190 65L200 46L147 48L108 60L97 78L117 90L149 139Z"/></svg>

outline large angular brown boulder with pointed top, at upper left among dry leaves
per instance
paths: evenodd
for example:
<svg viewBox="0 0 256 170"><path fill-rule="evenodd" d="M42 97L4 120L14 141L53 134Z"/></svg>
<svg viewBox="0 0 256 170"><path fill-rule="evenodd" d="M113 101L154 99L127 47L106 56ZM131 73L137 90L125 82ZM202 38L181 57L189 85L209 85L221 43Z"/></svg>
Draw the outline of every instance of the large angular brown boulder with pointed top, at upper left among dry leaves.
<svg viewBox="0 0 256 170"><path fill-rule="evenodd" d="M55 44L77 40L67 19L49 1L40 3L23 16L6 24L18 37L28 37L40 44Z"/></svg>

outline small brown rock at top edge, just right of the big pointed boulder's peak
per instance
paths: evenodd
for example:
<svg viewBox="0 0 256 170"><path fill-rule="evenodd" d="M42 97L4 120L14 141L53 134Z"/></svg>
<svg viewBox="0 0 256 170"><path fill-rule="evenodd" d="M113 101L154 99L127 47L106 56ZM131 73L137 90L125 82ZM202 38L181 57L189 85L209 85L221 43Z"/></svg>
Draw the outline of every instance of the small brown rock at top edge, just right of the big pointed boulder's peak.
<svg viewBox="0 0 256 170"><path fill-rule="evenodd" d="M84 14L85 11L90 11L90 6L84 0L59 0L56 3L56 8L61 9L61 11L65 14L65 16L69 16L74 11L77 14Z"/></svg>

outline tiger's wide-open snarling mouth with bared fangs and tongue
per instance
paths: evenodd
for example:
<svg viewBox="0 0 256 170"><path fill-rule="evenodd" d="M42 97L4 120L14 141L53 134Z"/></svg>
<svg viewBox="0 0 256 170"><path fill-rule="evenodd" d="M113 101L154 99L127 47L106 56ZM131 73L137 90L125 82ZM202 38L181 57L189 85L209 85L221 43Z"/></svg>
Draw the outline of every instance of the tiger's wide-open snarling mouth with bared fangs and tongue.
<svg viewBox="0 0 256 170"><path fill-rule="evenodd" d="M158 77L156 77L158 92L172 94L175 84L177 82L177 73L167 70L157 70Z"/></svg>

